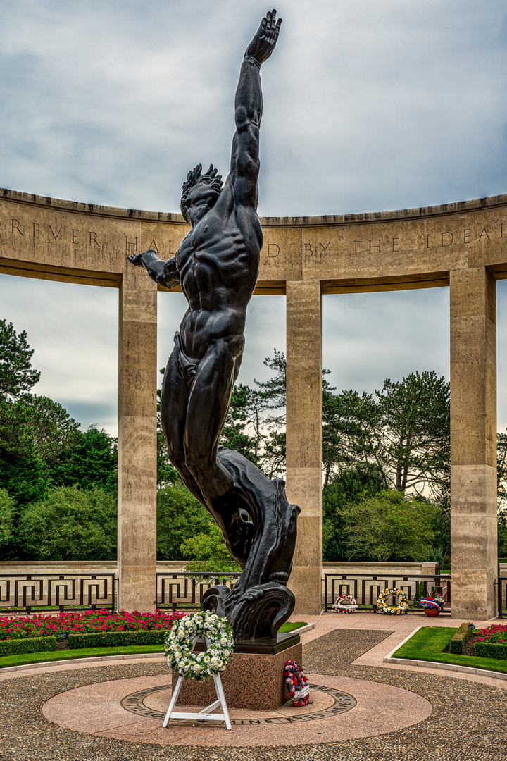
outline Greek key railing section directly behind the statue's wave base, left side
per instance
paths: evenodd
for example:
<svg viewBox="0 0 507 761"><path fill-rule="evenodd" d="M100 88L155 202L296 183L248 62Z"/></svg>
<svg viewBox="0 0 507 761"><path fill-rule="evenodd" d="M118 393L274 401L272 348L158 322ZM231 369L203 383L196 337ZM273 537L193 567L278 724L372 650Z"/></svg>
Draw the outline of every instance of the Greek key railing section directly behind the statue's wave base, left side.
<svg viewBox="0 0 507 761"><path fill-rule="evenodd" d="M215 584L233 588L239 573L220 575L191 573L157 573L157 607L181 610L201 607L201 598Z"/></svg>

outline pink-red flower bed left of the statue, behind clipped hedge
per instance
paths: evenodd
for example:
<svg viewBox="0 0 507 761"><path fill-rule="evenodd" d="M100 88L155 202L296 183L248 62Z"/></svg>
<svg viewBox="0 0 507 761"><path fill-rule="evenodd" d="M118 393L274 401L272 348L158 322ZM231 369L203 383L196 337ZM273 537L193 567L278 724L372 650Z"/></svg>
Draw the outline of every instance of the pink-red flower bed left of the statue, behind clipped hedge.
<svg viewBox="0 0 507 761"><path fill-rule="evenodd" d="M58 616L30 616L14 618L0 616L0 639L91 634L93 632L139 632L146 629L170 629L185 613L139 613L134 610L87 610L86 613L59 613Z"/></svg>

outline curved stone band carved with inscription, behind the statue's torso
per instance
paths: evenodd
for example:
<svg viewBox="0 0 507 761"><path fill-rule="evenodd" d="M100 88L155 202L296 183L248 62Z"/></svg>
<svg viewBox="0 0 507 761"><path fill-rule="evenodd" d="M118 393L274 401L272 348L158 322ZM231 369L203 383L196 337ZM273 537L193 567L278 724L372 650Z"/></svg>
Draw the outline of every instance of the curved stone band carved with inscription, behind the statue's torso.
<svg viewBox="0 0 507 761"><path fill-rule="evenodd" d="M125 254L178 250L189 228L177 221L0 204L0 256L50 266L121 273ZM376 278L445 272L507 262L507 207L347 224L273 224L264 228L259 280ZM505 253L504 253L505 251Z"/></svg>

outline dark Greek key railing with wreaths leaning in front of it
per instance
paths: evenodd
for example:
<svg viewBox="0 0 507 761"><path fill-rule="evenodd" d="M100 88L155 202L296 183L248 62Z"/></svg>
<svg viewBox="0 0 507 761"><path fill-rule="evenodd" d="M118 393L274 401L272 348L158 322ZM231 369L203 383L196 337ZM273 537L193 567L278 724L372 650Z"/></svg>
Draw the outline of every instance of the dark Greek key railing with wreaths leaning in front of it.
<svg viewBox="0 0 507 761"><path fill-rule="evenodd" d="M341 594L352 594L360 606L358 612L371 613L377 609L377 597L387 588L397 587L407 593L409 610L408 613L424 613L423 608L415 607L415 600L438 592L445 600L442 613L451 613L451 576L448 574L438 576L426 575L350 575L350 574L325 574L324 575L324 610L333 610L332 605ZM398 600L391 600L390 604L397 605Z"/></svg>

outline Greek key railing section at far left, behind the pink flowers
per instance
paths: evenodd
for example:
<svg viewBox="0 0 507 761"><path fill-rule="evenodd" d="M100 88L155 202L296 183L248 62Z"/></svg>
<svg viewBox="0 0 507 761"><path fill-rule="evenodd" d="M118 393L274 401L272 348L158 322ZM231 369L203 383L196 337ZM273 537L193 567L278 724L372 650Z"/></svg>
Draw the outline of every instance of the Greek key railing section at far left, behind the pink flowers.
<svg viewBox="0 0 507 761"><path fill-rule="evenodd" d="M116 607L116 574L0 574L0 614Z"/></svg>

